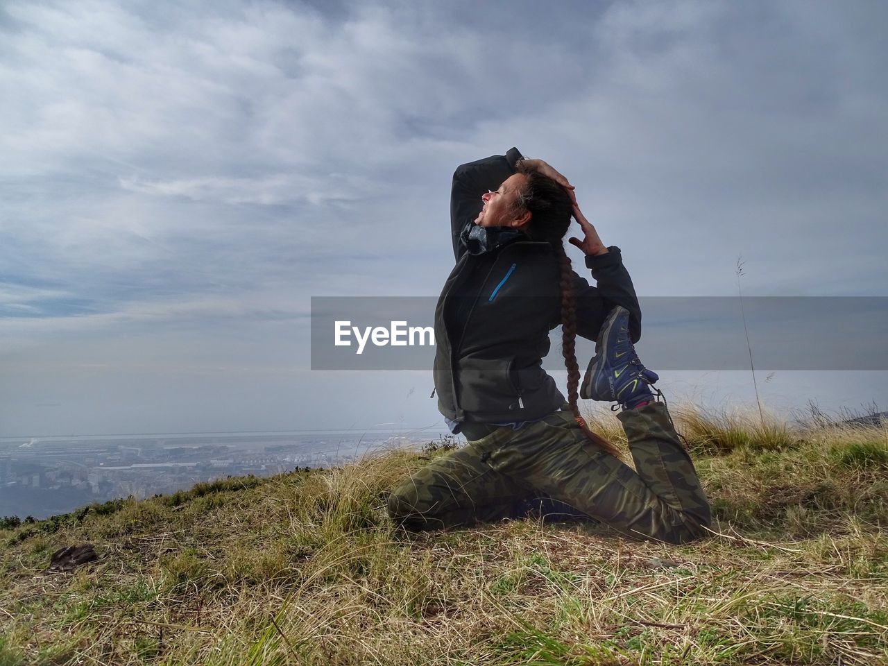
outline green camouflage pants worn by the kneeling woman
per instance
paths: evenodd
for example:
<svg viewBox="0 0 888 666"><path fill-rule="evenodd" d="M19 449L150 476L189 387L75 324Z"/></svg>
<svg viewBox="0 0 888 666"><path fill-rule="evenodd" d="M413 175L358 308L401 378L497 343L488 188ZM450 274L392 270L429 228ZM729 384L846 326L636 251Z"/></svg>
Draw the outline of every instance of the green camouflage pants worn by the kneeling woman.
<svg viewBox="0 0 888 666"><path fill-rule="evenodd" d="M458 527L513 516L527 499L544 496L626 535L667 543L703 536L710 504L665 405L617 418L637 472L591 443L565 406L428 464L392 492L389 514L412 530Z"/></svg>

